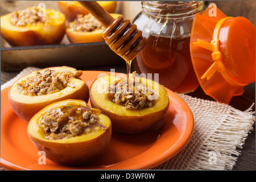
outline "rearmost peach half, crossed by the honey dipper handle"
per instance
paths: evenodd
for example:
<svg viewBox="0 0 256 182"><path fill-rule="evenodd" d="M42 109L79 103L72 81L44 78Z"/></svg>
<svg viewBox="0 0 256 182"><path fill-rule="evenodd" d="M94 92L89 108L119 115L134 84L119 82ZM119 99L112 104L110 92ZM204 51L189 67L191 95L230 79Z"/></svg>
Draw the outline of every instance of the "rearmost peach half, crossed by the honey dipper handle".
<svg viewBox="0 0 256 182"><path fill-rule="evenodd" d="M97 1L106 11L109 13L114 13L115 7L117 7L116 1ZM69 22L73 21L77 15L82 14L86 15L89 12L80 5L77 1L58 1L57 5L59 10L65 14Z"/></svg>

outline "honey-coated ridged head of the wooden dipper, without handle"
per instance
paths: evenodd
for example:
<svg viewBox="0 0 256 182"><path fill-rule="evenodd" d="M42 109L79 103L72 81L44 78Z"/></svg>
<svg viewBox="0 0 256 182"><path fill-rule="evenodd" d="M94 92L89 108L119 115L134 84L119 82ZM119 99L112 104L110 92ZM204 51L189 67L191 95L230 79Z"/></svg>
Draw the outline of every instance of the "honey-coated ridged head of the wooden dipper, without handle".
<svg viewBox="0 0 256 182"><path fill-rule="evenodd" d="M102 35L109 47L126 61L133 60L146 45L146 38L142 36L142 32L123 16L115 19Z"/></svg>

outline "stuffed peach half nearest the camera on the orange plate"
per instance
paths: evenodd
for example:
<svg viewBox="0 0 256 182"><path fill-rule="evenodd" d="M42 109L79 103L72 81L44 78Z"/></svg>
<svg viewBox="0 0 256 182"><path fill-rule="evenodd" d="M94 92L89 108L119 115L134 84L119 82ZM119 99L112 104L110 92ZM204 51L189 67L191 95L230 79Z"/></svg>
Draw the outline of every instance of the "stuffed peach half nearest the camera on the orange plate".
<svg viewBox="0 0 256 182"><path fill-rule="evenodd" d="M71 166L101 155L112 135L109 117L81 100L64 100L44 107L28 123L27 133L46 158Z"/></svg>

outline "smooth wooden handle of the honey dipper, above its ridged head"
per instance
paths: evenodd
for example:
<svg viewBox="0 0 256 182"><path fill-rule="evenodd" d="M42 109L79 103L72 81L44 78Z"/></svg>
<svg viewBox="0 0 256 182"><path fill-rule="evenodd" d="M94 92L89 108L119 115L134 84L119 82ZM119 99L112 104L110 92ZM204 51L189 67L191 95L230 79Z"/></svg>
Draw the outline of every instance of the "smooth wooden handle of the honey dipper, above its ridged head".
<svg viewBox="0 0 256 182"><path fill-rule="evenodd" d="M114 18L96 1L79 1L79 3L94 16L102 26L109 27Z"/></svg>

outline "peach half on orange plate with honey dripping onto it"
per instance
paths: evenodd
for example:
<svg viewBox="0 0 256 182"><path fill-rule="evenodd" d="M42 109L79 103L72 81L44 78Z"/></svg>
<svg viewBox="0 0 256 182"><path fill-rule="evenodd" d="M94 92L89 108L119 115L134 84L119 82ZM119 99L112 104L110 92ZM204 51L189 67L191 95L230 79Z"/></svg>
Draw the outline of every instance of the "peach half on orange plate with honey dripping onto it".
<svg viewBox="0 0 256 182"><path fill-rule="evenodd" d="M166 89L146 78L103 76L90 86L92 107L100 109L119 133L141 133L158 123L168 110Z"/></svg>

